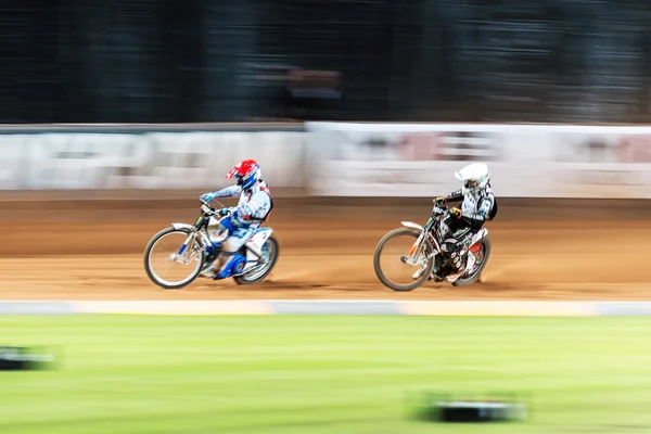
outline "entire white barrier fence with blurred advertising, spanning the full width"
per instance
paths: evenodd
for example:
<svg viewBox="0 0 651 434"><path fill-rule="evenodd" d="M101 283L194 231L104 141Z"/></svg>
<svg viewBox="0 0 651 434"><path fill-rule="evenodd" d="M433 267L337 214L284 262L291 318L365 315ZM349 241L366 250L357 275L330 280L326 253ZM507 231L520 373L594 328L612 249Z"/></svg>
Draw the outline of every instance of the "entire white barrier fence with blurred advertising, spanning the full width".
<svg viewBox="0 0 651 434"><path fill-rule="evenodd" d="M255 158L277 191L311 196L431 196L481 161L502 197L651 197L646 126L10 126L0 155L0 194L218 189L234 163Z"/></svg>

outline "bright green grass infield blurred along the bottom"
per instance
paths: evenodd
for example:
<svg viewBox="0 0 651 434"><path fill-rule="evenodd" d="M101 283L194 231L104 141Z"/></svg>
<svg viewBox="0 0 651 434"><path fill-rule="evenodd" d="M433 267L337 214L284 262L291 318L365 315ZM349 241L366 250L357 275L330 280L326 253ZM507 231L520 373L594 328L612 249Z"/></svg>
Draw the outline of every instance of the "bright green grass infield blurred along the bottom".
<svg viewBox="0 0 651 434"><path fill-rule="evenodd" d="M651 433L651 319L0 317L0 433ZM524 423L409 418L423 391L531 395Z"/></svg>

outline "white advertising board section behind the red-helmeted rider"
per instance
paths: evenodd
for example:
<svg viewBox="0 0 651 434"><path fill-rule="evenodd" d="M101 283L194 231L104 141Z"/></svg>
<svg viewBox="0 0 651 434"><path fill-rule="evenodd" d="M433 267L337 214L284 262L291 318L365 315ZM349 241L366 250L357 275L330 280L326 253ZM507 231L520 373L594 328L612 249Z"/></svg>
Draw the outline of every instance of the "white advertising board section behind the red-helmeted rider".
<svg viewBox="0 0 651 434"><path fill-rule="evenodd" d="M0 131L0 189L218 189L244 158L275 187L304 183L304 133Z"/></svg>

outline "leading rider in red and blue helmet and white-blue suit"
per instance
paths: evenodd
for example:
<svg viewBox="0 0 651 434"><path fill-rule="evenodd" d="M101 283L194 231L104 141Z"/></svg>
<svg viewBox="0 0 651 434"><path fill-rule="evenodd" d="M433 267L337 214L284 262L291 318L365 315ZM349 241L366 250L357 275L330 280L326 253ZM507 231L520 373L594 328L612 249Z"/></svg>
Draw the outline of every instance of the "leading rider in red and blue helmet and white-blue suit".
<svg viewBox="0 0 651 434"><path fill-rule="evenodd" d="M260 166L254 159L238 163L226 178L235 178L237 184L201 196L202 200L209 202L216 197L232 197L240 194L237 206L220 210L220 215L227 217L220 220L218 232L228 230L229 233L221 244L221 254L202 270L201 275L206 278L226 279L232 276L233 265L241 259L238 257L240 255L238 252L267 219L273 207L269 187L261 178Z"/></svg>

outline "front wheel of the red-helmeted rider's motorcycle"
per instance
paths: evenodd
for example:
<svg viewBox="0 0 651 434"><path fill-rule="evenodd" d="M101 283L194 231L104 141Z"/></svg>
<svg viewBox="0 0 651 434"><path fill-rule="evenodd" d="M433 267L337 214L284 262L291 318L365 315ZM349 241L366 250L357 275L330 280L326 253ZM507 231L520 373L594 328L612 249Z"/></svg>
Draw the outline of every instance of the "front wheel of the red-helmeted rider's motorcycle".
<svg viewBox="0 0 651 434"><path fill-rule="evenodd" d="M188 229L167 228L151 239L144 251L144 269L152 282L166 290L177 290L196 279L204 254L197 239L188 240L190 234ZM191 245L183 247L188 241Z"/></svg>

